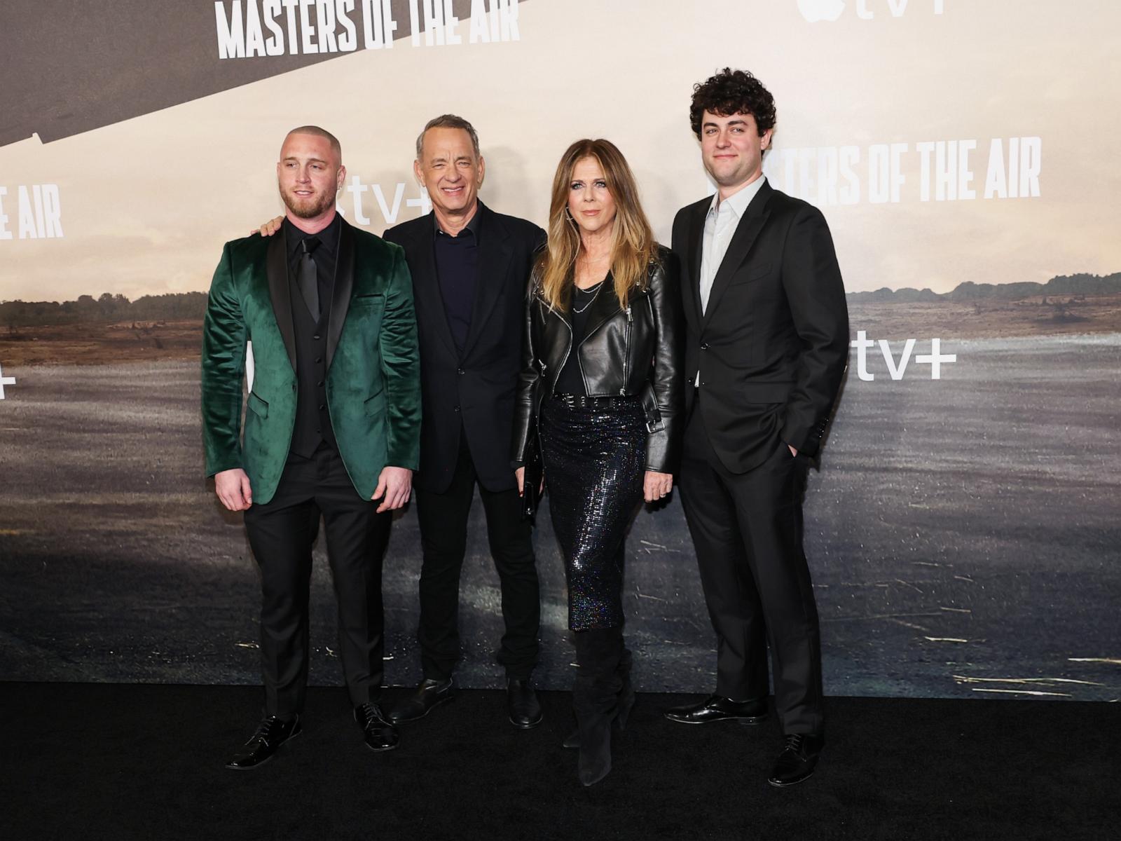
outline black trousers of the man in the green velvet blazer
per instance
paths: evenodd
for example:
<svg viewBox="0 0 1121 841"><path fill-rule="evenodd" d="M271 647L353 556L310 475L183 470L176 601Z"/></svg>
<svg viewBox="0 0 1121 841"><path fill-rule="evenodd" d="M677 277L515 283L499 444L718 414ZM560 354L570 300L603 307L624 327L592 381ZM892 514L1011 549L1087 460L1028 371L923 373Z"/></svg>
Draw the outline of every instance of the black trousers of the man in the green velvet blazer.
<svg viewBox="0 0 1121 841"><path fill-rule="evenodd" d="M308 664L307 597L319 517L339 603L339 658L355 706L377 701L385 664L381 562L392 519L362 499L337 451L291 453L276 496L245 511L261 570L261 667L265 709L291 718L304 706Z"/></svg>

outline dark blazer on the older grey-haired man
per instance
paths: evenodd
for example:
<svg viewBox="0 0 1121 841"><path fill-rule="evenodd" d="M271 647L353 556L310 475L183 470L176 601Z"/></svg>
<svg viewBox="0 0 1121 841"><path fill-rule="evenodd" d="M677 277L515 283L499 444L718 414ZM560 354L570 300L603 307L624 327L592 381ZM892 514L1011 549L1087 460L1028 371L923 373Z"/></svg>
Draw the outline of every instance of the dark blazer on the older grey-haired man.
<svg viewBox="0 0 1121 841"><path fill-rule="evenodd" d="M491 491L516 486L510 470L513 392L521 366L521 322L534 255L545 231L479 203L479 283L462 358L455 348L436 277L433 214L390 228L383 238L405 248L413 275L420 343L420 469L414 484L447 490L460 453L460 429L475 473Z"/></svg>

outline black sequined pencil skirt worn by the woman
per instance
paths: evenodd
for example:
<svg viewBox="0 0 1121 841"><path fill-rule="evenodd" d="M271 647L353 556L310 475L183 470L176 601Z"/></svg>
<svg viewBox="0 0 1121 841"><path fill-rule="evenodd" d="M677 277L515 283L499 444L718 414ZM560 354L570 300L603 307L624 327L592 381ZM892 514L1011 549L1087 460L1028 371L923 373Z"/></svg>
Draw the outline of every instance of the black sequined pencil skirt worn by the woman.
<svg viewBox="0 0 1121 841"><path fill-rule="evenodd" d="M623 538L642 500L646 423L637 399L543 401L541 456L564 555L572 630L623 623Z"/></svg>

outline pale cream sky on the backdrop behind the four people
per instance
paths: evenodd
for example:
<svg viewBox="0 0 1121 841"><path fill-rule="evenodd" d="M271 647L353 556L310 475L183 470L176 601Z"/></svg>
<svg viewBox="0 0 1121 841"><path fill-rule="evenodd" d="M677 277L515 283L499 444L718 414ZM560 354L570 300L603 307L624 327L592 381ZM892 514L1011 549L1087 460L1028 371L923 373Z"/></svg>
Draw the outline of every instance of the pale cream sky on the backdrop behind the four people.
<svg viewBox="0 0 1121 841"><path fill-rule="evenodd" d="M13 233L0 240L0 299L205 290L222 243L279 212L280 141L308 122L342 140L376 233L386 223L369 185L391 209L404 183L397 221L417 215L414 140L451 111L479 129L493 209L544 224L560 153L606 137L668 243L676 210L710 190L687 122L692 85L724 65L775 94L778 150L860 148L861 201L823 207L849 290L1121 271L1121 4L935 8L910 0L893 17L889 0L851 0L837 20L809 22L797 0L528 0L517 43L397 41L46 146L17 142L0 148ZM984 200L990 140L1011 137L1041 138L1041 195ZM979 197L919 201L917 145L960 139L978 141ZM878 144L907 145L899 203L868 201ZM62 239L19 239L17 190L33 184L58 185ZM353 194L340 204L353 221Z"/></svg>

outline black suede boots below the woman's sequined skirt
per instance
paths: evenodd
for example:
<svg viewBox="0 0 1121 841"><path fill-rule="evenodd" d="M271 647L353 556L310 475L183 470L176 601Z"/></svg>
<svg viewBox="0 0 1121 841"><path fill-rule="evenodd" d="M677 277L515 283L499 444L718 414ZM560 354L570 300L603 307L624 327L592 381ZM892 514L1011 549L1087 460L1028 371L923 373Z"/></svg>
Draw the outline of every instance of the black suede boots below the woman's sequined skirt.
<svg viewBox="0 0 1121 841"><path fill-rule="evenodd" d="M623 635L622 628L592 628L574 636L578 668L572 702L580 732L578 776L590 786L611 770L611 722L620 714L623 690Z"/></svg>

